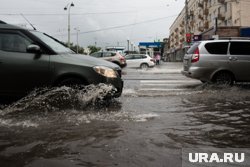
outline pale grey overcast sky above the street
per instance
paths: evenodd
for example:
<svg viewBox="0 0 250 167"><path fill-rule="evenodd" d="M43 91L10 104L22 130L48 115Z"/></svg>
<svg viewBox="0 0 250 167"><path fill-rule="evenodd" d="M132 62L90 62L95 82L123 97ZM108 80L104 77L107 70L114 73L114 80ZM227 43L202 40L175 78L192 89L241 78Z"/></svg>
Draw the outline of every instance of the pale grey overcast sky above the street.
<svg viewBox="0 0 250 167"><path fill-rule="evenodd" d="M0 0L0 20L30 28L23 14L37 30L66 42L64 7L71 2L71 42L76 43L78 28L79 45L103 47L168 37L185 0Z"/></svg>

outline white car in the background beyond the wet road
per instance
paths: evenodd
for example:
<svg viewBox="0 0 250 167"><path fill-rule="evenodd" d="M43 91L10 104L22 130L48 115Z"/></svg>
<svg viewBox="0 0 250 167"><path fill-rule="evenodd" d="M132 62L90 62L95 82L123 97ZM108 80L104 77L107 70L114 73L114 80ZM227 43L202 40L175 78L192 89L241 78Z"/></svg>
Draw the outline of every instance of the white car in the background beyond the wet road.
<svg viewBox="0 0 250 167"><path fill-rule="evenodd" d="M130 54L125 58L127 67L147 69L155 66L155 60L147 54Z"/></svg>

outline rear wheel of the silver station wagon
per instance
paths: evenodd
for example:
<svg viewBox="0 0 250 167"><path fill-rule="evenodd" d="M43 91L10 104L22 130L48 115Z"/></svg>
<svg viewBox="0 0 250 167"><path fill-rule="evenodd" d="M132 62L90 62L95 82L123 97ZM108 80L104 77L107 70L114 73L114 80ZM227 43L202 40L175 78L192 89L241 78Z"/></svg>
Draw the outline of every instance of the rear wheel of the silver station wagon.
<svg viewBox="0 0 250 167"><path fill-rule="evenodd" d="M214 82L220 85L232 85L234 78L229 72L219 72L216 74Z"/></svg>

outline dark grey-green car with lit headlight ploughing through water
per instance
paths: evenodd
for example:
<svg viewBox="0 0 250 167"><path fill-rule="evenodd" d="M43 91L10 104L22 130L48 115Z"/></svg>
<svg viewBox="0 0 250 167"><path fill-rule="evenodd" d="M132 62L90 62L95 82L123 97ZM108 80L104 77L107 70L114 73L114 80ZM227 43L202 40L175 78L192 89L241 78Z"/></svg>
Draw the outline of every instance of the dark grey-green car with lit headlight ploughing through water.
<svg viewBox="0 0 250 167"><path fill-rule="evenodd" d="M25 95L37 87L113 85L122 93L121 68L94 57L79 55L55 38L0 22L0 95Z"/></svg>

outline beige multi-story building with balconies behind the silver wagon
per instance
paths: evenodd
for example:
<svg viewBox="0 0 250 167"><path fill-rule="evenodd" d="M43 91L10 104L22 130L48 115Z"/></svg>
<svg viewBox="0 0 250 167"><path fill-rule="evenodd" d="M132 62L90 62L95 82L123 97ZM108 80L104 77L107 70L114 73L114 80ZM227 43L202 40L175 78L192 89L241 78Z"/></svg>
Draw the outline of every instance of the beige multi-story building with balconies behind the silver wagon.
<svg viewBox="0 0 250 167"><path fill-rule="evenodd" d="M250 0L187 0L186 4L170 27L171 60L182 60L189 34L195 40L238 37L242 28L250 27Z"/></svg>

